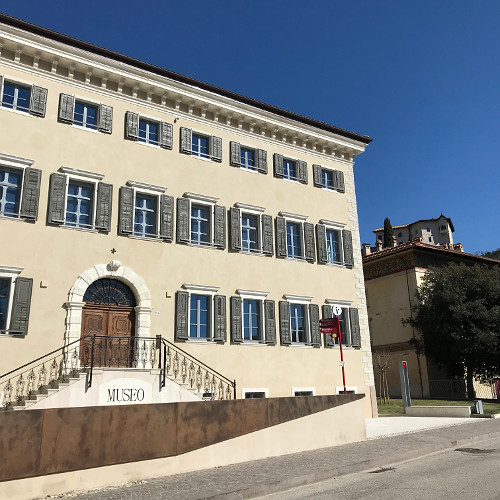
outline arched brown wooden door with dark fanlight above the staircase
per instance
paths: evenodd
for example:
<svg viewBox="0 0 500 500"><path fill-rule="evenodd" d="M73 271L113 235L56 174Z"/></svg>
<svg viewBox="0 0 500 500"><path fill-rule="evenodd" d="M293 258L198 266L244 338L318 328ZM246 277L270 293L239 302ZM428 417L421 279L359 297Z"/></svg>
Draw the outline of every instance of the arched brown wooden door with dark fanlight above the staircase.
<svg viewBox="0 0 500 500"><path fill-rule="evenodd" d="M83 297L80 361L89 366L131 366L134 358L135 297L123 282L94 281ZM91 336L95 335L94 338Z"/></svg>

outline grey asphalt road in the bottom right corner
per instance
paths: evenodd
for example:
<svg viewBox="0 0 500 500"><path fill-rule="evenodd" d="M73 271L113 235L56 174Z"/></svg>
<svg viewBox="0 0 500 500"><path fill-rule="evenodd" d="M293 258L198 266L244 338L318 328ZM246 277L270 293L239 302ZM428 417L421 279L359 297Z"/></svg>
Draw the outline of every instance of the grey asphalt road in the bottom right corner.
<svg viewBox="0 0 500 500"><path fill-rule="evenodd" d="M265 500L500 499L500 438L259 497Z"/></svg>

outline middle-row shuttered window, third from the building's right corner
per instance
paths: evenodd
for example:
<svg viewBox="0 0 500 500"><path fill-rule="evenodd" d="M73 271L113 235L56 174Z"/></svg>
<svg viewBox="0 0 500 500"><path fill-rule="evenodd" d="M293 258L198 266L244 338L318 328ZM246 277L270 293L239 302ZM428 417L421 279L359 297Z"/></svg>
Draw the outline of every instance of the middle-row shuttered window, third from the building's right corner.
<svg viewBox="0 0 500 500"><path fill-rule="evenodd" d="M264 210L245 203L230 209L231 250L273 255L273 219Z"/></svg>

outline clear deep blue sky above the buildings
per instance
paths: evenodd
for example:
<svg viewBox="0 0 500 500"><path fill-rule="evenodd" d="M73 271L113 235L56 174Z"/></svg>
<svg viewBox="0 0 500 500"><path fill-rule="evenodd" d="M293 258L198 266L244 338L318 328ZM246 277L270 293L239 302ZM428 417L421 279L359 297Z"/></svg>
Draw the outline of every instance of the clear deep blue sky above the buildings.
<svg viewBox="0 0 500 500"><path fill-rule="evenodd" d="M128 5L128 6L127 6ZM500 247L499 0L108 0L3 12L373 142L355 163L361 240L453 220Z"/></svg>

